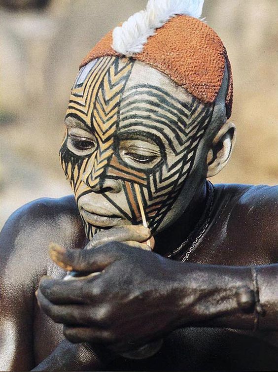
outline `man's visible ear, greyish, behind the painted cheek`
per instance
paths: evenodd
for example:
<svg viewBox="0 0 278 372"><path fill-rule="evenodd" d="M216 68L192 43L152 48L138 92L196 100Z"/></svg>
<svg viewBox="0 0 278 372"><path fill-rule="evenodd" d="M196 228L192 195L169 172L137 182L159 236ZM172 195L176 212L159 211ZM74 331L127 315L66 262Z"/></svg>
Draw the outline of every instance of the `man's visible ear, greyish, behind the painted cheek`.
<svg viewBox="0 0 278 372"><path fill-rule="evenodd" d="M208 151L207 177L212 177L225 167L230 159L236 141L236 126L234 123L226 122L212 141Z"/></svg>

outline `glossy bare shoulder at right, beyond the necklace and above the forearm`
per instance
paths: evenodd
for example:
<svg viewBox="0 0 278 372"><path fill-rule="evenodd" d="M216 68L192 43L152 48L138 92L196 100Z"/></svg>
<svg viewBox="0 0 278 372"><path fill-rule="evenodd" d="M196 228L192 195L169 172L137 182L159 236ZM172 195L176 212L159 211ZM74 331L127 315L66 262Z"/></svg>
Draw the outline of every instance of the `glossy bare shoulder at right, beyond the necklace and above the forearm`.
<svg viewBox="0 0 278 372"><path fill-rule="evenodd" d="M278 186L215 185L221 213L226 215L228 234L249 239L278 258Z"/></svg>

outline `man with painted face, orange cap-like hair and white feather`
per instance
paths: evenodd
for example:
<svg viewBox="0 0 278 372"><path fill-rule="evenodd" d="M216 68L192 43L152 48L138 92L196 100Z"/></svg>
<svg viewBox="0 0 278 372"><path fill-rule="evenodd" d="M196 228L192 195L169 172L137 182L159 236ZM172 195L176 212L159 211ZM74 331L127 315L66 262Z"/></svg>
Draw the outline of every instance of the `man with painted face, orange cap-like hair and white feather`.
<svg viewBox="0 0 278 372"><path fill-rule="evenodd" d="M206 181L227 164L235 126L225 48L192 17L202 3L149 1L83 61L61 147L75 201L28 204L1 234L4 369L278 365L276 266L227 266L277 261L277 188ZM62 280L50 242L81 277ZM35 302L45 274L55 279L38 300L58 324ZM149 358L125 357L161 338Z"/></svg>

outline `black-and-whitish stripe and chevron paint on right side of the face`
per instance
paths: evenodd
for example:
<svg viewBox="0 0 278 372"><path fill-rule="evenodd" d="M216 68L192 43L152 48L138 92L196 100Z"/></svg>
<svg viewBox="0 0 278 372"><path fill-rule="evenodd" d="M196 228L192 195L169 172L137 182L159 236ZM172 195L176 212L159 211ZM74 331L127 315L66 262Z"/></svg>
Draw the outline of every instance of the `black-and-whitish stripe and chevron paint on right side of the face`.
<svg viewBox="0 0 278 372"><path fill-rule="evenodd" d="M148 226L154 232L192 169L213 105L200 103L194 97L189 102L179 101L162 88L147 84L126 90L120 111L119 132L139 132L143 127L149 138L157 138L168 148L160 167L146 172L147 185L140 183Z"/></svg>

